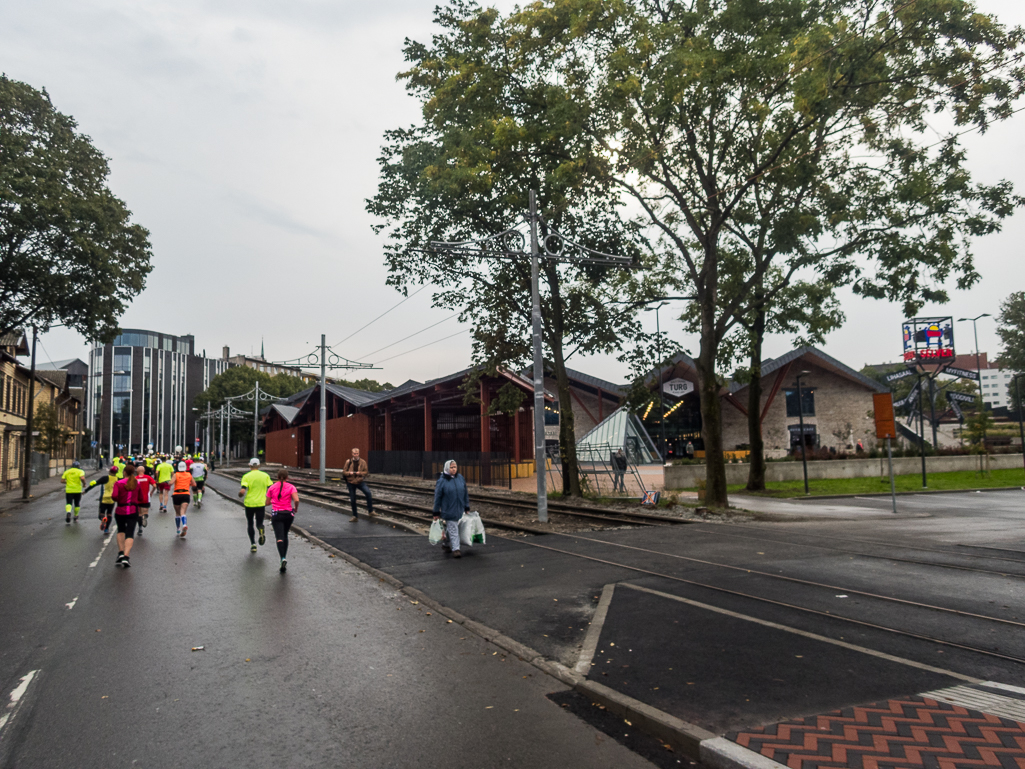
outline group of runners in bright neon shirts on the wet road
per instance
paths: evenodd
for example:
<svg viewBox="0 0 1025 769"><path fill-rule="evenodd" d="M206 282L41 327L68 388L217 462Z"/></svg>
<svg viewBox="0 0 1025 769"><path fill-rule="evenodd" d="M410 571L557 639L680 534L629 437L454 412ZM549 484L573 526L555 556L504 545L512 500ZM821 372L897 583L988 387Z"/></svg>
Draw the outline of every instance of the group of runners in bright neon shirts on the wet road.
<svg viewBox="0 0 1025 769"><path fill-rule="evenodd" d="M288 565L288 532L299 508L299 494L288 483L288 471L278 471L278 480L259 469L259 459L249 460L250 470L242 477L239 496L244 497L246 526L250 550L257 550L266 541L263 524L266 505L271 505L271 526L274 529L281 559L280 571ZM106 478L92 481L83 489L85 473L79 462L74 462L61 479L65 482L65 521L78 522L82 494L94 488L101 489L99 497L99 528L105 536L111 533L111 524L117 529L118 557L116 566L131 566L130 553L136 530L141 535L150 520L153 496L157 496L160 512L167 512L167 502L174 508L174 529L179 538L189 531L189 505L195 494L196 508L203 507L203 490L207 464L202 454L190 456L176 447L174 454L145 456L117 456Z"/></svg>

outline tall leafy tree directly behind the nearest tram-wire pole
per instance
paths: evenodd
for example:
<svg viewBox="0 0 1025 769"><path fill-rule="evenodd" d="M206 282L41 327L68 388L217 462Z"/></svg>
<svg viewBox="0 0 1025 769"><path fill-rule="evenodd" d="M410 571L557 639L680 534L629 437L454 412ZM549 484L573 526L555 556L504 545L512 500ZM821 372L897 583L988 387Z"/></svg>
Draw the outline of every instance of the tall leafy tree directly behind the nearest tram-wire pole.
<svg viewBox="0 0 1025 769"><path fill-rule="evenodd" d="M406 41L411 67L400 78L423 119L386 132L368 210L387 235L388 282L401 290L437 286L435 305L458 310L470 324L475 362L515 370L531 360L529 261L467 259L429 243L524 230L531 190L544 216L542 238L556 227L589 248L634 257L639 242L611 188L586 162L594 153L581 146L589 139L577 110L510 50L507 19L455 0L436 10L436 23L429 44ZM557 382L564 490L571 495L580 486L566 362L637 338L636 309L615 303L628 280L601 267L541 267L545 367Z"/></svg>

